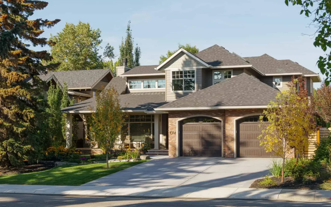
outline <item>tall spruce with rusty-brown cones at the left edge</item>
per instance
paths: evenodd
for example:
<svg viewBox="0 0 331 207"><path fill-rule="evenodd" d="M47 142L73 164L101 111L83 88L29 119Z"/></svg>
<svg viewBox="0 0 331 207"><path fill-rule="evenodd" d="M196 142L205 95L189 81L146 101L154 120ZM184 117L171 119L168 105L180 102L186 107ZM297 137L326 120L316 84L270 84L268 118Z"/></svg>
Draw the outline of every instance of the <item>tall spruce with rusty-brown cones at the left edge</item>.
<svg viewBox="0 0 331 207"><path fill-rule="evenodd" d="M20 165L32 161L42 149L46 137L41 117L45 103L41 97L43 82L36 76L56 67L47 51L33 51L32 46L52 46L54 42L39 36L60 20L32 20L34 11L48 5L44 1L0 1L0 164ZM32 84L24 81L32 78Z"/></svg>

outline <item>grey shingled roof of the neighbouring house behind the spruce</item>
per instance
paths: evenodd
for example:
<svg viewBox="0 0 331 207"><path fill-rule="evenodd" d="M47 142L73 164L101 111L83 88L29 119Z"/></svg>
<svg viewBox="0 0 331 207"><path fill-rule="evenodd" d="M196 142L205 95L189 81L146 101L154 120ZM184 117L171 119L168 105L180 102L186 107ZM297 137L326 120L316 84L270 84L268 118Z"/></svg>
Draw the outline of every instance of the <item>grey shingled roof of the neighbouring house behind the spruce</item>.
<svg viewBox="0 0 331 207"><path fill-rule="evenodd" d="M64 82L66 82L69 89L92 88L108 73L111 73L110 69L56 71L48 72L46 75L38 75L38 77L42 80L46 80L47 77L54 75L62 86L64 85Z"/></svg>

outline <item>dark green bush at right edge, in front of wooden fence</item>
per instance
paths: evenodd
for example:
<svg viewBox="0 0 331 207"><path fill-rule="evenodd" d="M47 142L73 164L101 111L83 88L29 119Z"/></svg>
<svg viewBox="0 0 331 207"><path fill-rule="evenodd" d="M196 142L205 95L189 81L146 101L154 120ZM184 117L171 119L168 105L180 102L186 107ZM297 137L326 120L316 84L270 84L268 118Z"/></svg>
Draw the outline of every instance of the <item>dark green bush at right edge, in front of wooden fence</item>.
<svg viewBox="0 0 331 207"><path fill-rule="evenodd" d="M324 162L330 165L331 163L331 134L327 138L320 140L320 143L315 143L316 150L313 159L317 162Z"/></svg>

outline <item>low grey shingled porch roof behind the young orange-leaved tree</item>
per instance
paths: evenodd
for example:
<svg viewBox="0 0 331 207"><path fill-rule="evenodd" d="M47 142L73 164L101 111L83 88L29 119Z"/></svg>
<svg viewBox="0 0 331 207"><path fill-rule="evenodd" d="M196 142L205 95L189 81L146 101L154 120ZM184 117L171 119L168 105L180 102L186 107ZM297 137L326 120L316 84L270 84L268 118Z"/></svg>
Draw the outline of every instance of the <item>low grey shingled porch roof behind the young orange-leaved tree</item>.
<svg viewBox="0 0 331 207"><path fill-rule="evenodd" d="M119 95L122 110L153 111L154 108L166 104L165 92L126 93ZM95 98L63 108L64 113L88 113L96 109Z"/></svg>

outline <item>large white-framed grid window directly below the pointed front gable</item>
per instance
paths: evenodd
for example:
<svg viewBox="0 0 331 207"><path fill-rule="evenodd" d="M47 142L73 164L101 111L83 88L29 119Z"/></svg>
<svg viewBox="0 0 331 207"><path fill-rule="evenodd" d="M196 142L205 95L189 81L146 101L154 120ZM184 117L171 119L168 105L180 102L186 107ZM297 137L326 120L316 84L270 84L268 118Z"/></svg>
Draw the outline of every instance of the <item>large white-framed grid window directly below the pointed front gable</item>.
<svg viewBox="0 0 331 207"><path fill-rule="evenodd" d="M172 90L195 90L195 71L172 71Z"/></svg>

